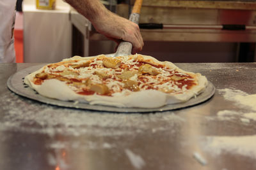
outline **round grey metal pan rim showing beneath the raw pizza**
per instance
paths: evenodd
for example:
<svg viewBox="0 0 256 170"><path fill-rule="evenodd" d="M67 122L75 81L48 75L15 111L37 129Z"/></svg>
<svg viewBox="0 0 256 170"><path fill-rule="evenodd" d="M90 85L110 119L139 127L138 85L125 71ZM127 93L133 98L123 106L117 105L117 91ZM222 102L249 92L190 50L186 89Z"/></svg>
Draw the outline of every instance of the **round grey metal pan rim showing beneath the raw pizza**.
<svg viewBox="0 0 256 170"><path fill-rule="evenodd" d="M7 81L7 86L12 92L18 94L23 97L27 97L29 99L33 99L35 101L40 101L45 104L52 104L56 106L63 106L67 108L77 108L84 110L95 110L95 111L109 111L109 112L122 112L122 113L147 113L147 112L156 112L156 111L168 111L168 110L177 110L180 108L186 108L188 106L194 106L196 104L203 103L210 99L215 92L215 87L211 82L208 83L206 89L202 94L191 98L189 101L185 103L178 104L169 104L163 106L161 108L116 108L112 106L101 106L101 105L91 105L88 103L76 103L74 101L59 101L56 99L50 99L38 94L35 90L28 87L28 85L24 84L24 77L33 71L40 69L40 67L44 66L32 66L26 69L22 69L21 71L13 74Z"/></svg>

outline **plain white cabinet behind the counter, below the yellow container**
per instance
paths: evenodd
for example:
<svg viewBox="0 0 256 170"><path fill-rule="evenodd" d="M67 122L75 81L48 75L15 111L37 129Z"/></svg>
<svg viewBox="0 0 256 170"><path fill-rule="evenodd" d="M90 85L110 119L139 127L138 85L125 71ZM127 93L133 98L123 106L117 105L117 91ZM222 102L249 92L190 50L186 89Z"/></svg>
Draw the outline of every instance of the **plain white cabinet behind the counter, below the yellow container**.
<svg viewBox="0 0 256 170"><path fill-rule="evenodd" d="M72 57L70 6L56 2L56 10L37 10L35 0L23 2L24 62L59 62Z"/></svg>

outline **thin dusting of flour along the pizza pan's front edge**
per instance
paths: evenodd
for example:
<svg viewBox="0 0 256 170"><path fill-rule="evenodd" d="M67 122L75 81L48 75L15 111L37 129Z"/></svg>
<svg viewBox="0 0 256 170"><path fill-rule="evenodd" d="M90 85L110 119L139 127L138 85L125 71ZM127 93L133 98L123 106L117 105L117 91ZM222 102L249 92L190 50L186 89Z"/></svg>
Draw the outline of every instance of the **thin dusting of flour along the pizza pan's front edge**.
<svg viewBox="0 0 256 170"><path fill-rule="evenodd" d="M0 103L0 111L3 112L0 131L15 130L44 133L49 136L120 136L134 135L134 132L141 133L147 130L169 131L186 123L184 118L171 111L125 114L76 110L35 103L10 93L0 96Z"/></svg>

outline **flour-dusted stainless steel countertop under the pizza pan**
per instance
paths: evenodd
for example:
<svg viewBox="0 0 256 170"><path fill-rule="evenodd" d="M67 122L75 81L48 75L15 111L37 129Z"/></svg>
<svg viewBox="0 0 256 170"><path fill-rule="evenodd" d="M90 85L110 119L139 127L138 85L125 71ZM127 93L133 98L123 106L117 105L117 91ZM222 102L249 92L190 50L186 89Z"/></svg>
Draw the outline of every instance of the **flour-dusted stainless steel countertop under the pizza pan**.
<svg viewBox="0 0 256 170"><path fill-rule="evenodd" d="M244 117L256 110L234 100L256 94L256 63L177 64L207 76L216 94L147 114L60 108L10 92L8 78L34 65L0 64L0 169L256 169L256 119Z"/></svg>

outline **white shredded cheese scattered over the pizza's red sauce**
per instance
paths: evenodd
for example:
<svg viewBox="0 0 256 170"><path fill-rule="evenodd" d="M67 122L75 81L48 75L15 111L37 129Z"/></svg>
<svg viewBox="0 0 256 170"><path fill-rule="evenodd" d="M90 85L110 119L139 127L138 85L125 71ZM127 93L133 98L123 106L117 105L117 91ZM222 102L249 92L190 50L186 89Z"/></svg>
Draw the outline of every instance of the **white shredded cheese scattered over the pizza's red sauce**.
<svg viewBox="0 0 256 170"><path fill-rule="evenodd" d="M100 55L100 57L103 57ZM129 67L130 71L138 71L139 67L138 64L140 64L137 60L138 54L133 56L124 56L124 57L118 57L120 60L122 60L122 64L125 64L126 67ZM104 83L109 90L111 90L112 96L116 96L118 94L129 94L131 91L124 88L124 82L120 80L116 75L124 73L124 69L121 69L120 67L116 69L107 68L104 67L102 64L102 58L98 59L95 57L95 59L80 59L76 62L72 62L72 64L83 64L84 62L90 62L90 66L88 67L80 67L78 69L74 69L68 64L60 65L55 68L52 67L45 67L44 72L45 73L54 73L59 74L58 72L64 71L65 69L68 69L68 71L74 71L79 73L79 75L74 74L67 74L65 77L67 78L77 78L79 81L85 83L88 78L92 83L102 84ZM172 81L170 78L173 75L176 76L186 76L184 81L194 81L194 78L189 78L189 74L186 73L179 73L175 71L175 68L169 68L169 67L157 67L152 66L154 69L156 69L159 74L156 76L152 75L142 75L141 74L134 74L129 80L136 81L138 83L138 87L140 90L147 90L147 89L156 89L156 90L166 90L167 92L185 92L188 87L188 85L182 85L182 82L179 81ZM99 71L100 73L105 73L109 75L108 78L105 78L104 80L100 78L97 74L95 74L95 71ZM141 76L141 77L140 77ZM182 85L180 87L180 85ZM74 87L72 84L68 85L70 89L81 92L83 90L82 88L79 89L79 87ZM180 87L180 88L179 88Z"/></svg>

